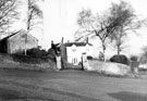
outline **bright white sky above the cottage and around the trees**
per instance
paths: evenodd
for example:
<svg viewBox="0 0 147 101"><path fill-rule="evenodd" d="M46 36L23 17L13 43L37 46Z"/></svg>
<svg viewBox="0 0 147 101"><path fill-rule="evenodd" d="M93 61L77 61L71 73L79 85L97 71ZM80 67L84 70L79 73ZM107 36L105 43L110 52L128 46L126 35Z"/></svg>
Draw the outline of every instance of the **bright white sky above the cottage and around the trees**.
<svg viewBox="0 0 147 101"><path fill-rule="evenodd" d="M27 2L23 0L24 4L21 7L21 18L13 25L13 29L26 29L27 20ZM44 11L44 23L38 25L30 34L39 40L39 46L44 49L50 48L50 42L60 42L64 37L64 42L74 40L74 33L78 29L76 23L77 14L83 9L90 9L93 13L98 12L102 14L111 2L119 2L119 0L45 0L45 2L37 2ZM146 0L127 0L136 14L142 17L147 17L147 1ZM139 29L139 35L130 34L126 42L128 43L126 50L128 53L140 53L143 46L147 46L147 28ZM94 45L98 45L99 40L96 38ZM96 49L97 51L97 49ZM111 53L110 51L108 51Z"/></svg>

